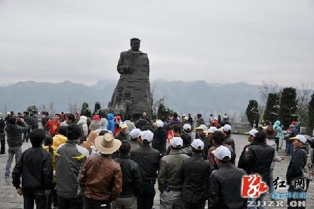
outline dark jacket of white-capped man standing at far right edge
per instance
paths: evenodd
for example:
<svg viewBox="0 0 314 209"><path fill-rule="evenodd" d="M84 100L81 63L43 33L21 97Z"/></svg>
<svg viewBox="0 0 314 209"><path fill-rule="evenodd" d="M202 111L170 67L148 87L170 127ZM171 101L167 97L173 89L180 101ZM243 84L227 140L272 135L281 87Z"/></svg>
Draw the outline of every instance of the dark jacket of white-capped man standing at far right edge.
<svg viewBox="0 0 314 209"><path fill-rule="evenodd" d="M291 184L294 178L302 177L302 168L304 168L304 166L306 165L307 147L307 145L304 145L294 151L290 160L290 164L287 168L286 179L288 185Z"/></svg>

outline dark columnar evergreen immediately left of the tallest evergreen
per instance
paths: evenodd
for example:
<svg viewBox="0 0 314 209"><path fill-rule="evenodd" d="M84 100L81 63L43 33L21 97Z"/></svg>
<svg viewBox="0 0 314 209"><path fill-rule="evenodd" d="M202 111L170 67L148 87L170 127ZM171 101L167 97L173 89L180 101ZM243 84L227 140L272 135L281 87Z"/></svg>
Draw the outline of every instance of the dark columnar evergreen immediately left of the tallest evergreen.
<svg viewBox="0 0 314 209"><path fill-rule="evenodd" d="M274 124L278 120L279 110L279 94L269 93L267 97L266 110L264 112L264 120L269 120L271 124Z"/></svg>

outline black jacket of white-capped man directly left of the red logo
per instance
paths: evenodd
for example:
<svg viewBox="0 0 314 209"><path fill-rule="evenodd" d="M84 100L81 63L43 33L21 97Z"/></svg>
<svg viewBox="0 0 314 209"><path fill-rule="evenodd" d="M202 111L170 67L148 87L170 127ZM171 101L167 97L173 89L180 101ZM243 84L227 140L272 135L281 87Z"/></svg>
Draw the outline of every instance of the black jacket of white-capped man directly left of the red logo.
<svg viewBox="0 0 314 209"><path fill-rule="evenodd" d="M213 209L246 208L246 199L241 197L242 177L246 172L230 162L220 164L211 173L208 205Z"/></svg>

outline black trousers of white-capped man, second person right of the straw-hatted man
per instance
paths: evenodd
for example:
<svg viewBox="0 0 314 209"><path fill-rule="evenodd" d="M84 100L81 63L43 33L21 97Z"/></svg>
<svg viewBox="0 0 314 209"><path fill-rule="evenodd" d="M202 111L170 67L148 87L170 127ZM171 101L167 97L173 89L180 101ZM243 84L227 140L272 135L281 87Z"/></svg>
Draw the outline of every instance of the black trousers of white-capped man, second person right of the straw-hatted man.
<svg viewBox="0 0 314 209"><path fill-rule="evenodd" d="M137 196L137 208L138 209L151 209L154 206L154 196L156 180L145 181L142 184L142 191Z"/></svg>

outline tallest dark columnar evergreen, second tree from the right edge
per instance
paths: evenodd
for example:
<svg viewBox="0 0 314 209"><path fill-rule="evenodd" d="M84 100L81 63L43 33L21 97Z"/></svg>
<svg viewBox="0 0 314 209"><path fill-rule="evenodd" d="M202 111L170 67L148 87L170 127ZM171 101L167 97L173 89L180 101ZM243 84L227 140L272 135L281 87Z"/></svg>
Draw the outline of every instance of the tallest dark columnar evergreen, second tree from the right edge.
<svg viewBox="0 0 314 209"><path fill-rule="evenodd" d="M283 124L283 129L287 129L292 120L296 120L297 111L297 92L296 89L288 87L283 89L278 118Z"/></svg>

